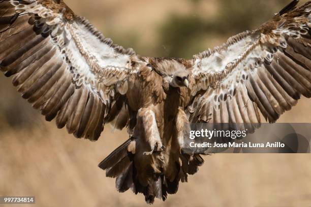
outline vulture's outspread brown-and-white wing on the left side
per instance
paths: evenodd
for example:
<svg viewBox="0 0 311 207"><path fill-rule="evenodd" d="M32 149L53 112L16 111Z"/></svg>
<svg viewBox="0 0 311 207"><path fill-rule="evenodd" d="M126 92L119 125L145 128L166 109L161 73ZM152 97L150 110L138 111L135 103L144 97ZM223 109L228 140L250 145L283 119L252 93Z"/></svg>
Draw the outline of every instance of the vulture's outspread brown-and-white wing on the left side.
<svg viewBox="0 0 311 207"><path fill-rule="evenodd" d="M61 0L0 1L1 71L46 120L56 117L76 137L99 138L127 92L134 56Z"/></svg>

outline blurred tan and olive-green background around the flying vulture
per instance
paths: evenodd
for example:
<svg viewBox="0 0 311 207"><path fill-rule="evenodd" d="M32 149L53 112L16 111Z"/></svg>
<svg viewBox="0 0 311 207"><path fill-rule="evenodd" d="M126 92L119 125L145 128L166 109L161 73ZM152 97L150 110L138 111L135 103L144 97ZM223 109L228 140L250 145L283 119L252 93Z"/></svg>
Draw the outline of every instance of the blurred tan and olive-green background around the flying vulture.
<svg viewBox="0 0 311 207"><path fill-rule="evenodd" d="M260 26L290 0L65 2L142 56L191 58ZM278 122L311 122L310 100L302 98ZM127 138L107 125L96 143L76 140L45 122L0 76L0 195L36 196L37 206L145 206L142 195L116 192L114 179L97 167ZM154 206L310 206L310 186L309 154L216 154Z"/></svg>

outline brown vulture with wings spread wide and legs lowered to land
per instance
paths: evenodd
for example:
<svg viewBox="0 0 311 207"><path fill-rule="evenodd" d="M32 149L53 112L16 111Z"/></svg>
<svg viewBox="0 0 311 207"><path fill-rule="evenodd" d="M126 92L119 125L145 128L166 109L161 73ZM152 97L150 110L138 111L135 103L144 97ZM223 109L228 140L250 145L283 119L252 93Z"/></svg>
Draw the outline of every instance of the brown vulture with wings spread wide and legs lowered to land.
<svg viewBox="0 0 311 207"><path fill-rule="evenodd" d="M311 2L295 0L258 29L192 59L113 44L63 0L0 0L0 70L70 134L97 141L107 123L129 140L99 167L116 189L166 200L198 171L183 152L190 123L275 122L311 97Z"/></svg>

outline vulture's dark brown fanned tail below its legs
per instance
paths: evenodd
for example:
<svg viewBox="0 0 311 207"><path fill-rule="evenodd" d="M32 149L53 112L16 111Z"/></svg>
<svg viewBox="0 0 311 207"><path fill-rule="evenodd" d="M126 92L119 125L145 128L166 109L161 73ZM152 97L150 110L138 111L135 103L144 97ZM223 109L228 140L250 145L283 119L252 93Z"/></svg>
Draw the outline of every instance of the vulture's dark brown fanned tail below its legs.
<svg viewBox="0 0 311 207"><path fill-rule="evenodd" d="M200 155L180 154L182 164L175 163L177 175L170 182L164 174L150 172L145 185L141 184L134 163L135 154L128 152L131 139L123 143L105 158L99 167L106 170L106 176L116 178L116 189L118 192L125 192L129 189L135 194L142 193L147 203L153 203L154 198L166 200L168 194L175 194L178 190L179 181L187 182L187 176L198 171L198 166L204 162ZM147 169L146 169L147 170Z"/></svg>

